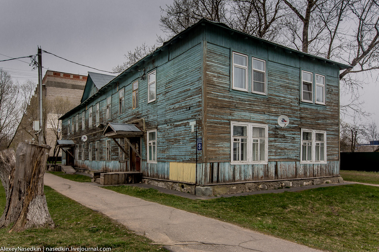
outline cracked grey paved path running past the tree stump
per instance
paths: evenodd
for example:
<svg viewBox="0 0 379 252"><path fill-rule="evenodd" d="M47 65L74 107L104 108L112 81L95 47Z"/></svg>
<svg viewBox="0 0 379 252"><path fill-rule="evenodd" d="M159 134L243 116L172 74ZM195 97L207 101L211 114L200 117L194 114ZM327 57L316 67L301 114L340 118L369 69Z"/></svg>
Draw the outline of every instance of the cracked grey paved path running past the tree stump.
<svg viewBox="0 0 379 252"><path fill-rule="evenodd" d="M45 173L45 185L174 252L321 252L183 210Z"/></svg>

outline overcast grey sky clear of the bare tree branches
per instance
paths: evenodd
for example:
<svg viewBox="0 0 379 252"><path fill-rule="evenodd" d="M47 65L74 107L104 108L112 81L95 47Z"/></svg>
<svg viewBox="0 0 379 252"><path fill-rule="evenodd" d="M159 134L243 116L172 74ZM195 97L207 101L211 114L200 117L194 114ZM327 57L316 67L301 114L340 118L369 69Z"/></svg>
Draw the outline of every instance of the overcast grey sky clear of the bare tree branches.
<svg viewBox="0 0 379 252"><path fill-rule="evenodd" d="M159 6L170 3L172 0L2 0L0 54L29 56L37 53L39 45L74 62L111 71L125 61L128 50L143 42L153 45L157 34L164 35L159 27ZM6 56L0 55L0 60L9 59ZM0 62L0 67L20 82L37 82L38 72L25 62ZM99 72L49 54L42 54L42 65L67 73ZM374 74L376 79L378 73ZM361 94L365 110L375 113L372 118L379 123L379 85L368 78Z"/></svg>

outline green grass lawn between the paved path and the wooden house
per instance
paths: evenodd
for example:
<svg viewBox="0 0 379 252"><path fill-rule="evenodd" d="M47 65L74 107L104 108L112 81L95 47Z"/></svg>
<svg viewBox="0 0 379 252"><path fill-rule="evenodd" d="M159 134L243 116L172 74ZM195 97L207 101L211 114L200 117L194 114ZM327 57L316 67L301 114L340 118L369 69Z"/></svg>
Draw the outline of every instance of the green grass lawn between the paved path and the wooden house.
<svg viewBox="0 0 379 252"><path fill-rule="evenodd" d="M329 251L379 250L379 188L360 184L301 192L193 200L155 189L105 187Z"/></svg>

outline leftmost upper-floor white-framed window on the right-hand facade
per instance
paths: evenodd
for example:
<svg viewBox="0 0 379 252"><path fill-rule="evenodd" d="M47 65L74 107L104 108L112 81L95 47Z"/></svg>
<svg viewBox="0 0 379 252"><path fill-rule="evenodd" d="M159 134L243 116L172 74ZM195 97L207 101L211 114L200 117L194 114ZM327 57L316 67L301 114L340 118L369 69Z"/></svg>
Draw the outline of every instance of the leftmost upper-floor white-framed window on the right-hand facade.
<svg viewBox="0 0 379 252"><path fill-rule="evenodd" d="M247 55L232 53L232 88L247 91Z"/></svg>

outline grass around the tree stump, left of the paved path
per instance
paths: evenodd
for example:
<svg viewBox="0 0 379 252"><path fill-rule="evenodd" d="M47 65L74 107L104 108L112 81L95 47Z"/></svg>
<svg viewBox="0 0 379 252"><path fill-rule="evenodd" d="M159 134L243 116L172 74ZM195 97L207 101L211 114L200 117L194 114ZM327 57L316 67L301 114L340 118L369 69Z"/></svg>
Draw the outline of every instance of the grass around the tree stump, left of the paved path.
<svg viewBox="0 0 379 252"><path fill-rule="evenodd" d="M111 247L112 252L168 251L151 245L151 240L132 233L124 226L45 186L47 206L55 229L31 229L8 233L0 229L0 247ZM5 192L0 183L0 209L5 207Z"/></svg>

